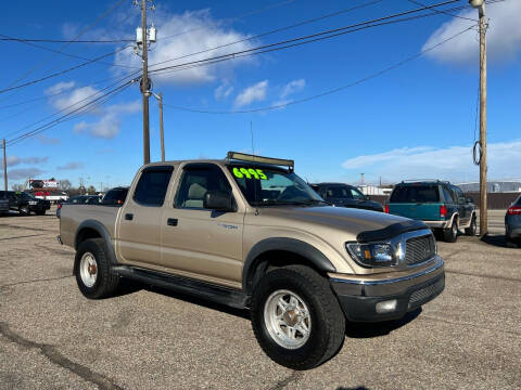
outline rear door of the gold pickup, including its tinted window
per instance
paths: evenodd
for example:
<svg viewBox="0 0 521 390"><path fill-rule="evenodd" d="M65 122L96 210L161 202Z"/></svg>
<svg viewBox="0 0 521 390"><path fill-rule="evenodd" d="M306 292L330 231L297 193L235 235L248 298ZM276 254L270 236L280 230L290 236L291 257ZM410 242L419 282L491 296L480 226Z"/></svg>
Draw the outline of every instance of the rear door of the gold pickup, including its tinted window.
<svg viewBox="0 0 521 390"><path fill-rule="evenodd" d="M116 250L122 263L156 264L161 258L161 218L173 166L144 168L118 214Z"/></svg>

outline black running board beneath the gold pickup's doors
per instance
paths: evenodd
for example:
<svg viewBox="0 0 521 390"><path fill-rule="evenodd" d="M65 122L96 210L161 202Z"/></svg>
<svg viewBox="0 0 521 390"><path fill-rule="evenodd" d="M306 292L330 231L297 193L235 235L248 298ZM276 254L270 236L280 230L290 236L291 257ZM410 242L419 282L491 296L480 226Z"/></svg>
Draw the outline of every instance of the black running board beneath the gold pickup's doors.
<svg viewBox="0 0 521 390"><path fill-rule="evenodd" d="M119 276L141 283L189 294L237 309L247 309L247 299L240 289L212 285L188 277L174 276L164 272L136 266L116 265L112 268L112 271Z"/></svg>

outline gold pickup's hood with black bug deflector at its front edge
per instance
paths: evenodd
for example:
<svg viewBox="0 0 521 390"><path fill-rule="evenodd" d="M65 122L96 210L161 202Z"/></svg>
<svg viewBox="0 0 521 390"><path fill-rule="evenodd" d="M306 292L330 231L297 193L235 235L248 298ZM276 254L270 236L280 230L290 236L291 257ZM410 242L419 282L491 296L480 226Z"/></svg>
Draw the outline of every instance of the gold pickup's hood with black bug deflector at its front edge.
<svg viewBox="0 0 521 390"><path fill-rule="evenodd" d="M285 223L293 220L304 230L341 231L359 242L385 239L406 231L427 229L421 221L379 211L331 206L266 207L259 209L259 214L276 220L280 218Z"/></svg>

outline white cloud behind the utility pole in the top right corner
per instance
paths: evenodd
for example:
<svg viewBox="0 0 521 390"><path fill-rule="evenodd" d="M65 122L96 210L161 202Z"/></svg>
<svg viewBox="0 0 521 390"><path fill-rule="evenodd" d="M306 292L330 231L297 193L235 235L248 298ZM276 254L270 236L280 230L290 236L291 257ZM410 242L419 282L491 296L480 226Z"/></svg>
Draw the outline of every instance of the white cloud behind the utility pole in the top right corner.
<svg viewBox="0 0 521 390"><path fill-rule="evenodd" d="M460 16L476 18L478 11L469 10ZM491 60L506 61L514 57L521 49L521 1L505 1L490 5L486 17L490 18L487 30L487 55ZM423 44L423 49L436 44L469 27L470 22L453 18L437 28ZM476 32L466 32L427 55L444 63L469 64L478 61L479 41Z"/></svg>

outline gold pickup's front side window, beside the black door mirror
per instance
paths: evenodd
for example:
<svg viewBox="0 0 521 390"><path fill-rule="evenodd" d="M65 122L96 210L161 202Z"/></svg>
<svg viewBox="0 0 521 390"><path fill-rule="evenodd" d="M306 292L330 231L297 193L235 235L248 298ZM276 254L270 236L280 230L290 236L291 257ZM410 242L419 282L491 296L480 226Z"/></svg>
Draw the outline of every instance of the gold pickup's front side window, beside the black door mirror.
<svg viewBox="0 0 521 390"><path fill-rule="evenodd" d="M190 165L182 173L175 207L204 209L204 196L208 191L231 193L231 186L225 173L215 165Z"/></svg>

